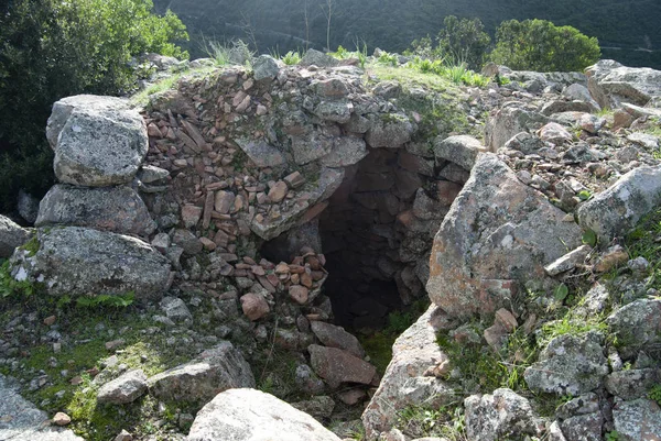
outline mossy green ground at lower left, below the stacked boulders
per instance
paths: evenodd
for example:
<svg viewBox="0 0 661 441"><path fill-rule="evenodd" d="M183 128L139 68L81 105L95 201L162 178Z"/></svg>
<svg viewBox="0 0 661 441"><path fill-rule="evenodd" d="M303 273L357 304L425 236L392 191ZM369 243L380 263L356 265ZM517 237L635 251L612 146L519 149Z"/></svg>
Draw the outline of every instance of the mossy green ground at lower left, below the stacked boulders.
<svg viewBox="0 0 661 441"><path fill-rule="evenodd" d="M17 315L33 311L37 321L33 323L37 334L48 330L42 320L55 315L58 332L67 337L59 352L51 343L25 342L24 356L20 368L14 371L4 365L4 375L31 381L37 372L44 372L48 382L36 390L23 390L26 399L39 405L48 415L64 411L72 417L71 428L88 441L112 439L121 429L137 434L149 434L155 428L149 427L150 419L156 419L158 406L153 398L144 396L124 406L97 406L98 386L91 383L89 370L100 370L101 363L112 355L105 343L122 339L124 343L116 351L118 363L128 368L141 368L148 376L174 367L192 356L193 348L180 348L174 352L167 345L165 332L153 332L156 324L142 316L136 307L80 308L75 304L58 307L55 299L42 295L10 297L0 306L0 329ZM102 326L102 328L99 328ZM112 329L115 333L100 329ZM148 329L151 329L148 333ZM118 367L108 367L102 375L117 376ZM66 375L63 375L66 371ZM83 383L73 385L72 378L82 377ZM56 395L57 393L62 395Z"/></svg>

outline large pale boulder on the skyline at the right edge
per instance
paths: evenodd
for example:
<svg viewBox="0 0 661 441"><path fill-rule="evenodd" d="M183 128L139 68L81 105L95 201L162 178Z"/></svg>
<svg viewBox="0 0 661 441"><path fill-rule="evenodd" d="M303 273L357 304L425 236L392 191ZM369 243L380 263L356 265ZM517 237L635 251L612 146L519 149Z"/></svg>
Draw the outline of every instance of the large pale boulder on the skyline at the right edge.
<svg viewBox="0 0 661 441"><path fill-rule="evenodd" d="M589 91L602 107L618 108L624 102L644 106L661 95L661 71L649 67L627 67L602 59L586 74Z"/></svg>

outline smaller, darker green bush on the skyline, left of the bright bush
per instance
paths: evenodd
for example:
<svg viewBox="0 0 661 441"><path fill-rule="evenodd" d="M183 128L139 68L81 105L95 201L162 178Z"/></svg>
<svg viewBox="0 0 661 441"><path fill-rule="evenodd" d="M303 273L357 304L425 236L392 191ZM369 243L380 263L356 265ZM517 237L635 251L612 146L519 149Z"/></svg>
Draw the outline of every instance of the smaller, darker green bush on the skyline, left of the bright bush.
<svg viewBox="0 0 661 441"><path fill-rule="evenodd" d="M455 64L466 63L469 68L479 69L491 43L483 22L479 19L448 15L443 20L443 25L437 36L438 55L451 57Z"/></svg>

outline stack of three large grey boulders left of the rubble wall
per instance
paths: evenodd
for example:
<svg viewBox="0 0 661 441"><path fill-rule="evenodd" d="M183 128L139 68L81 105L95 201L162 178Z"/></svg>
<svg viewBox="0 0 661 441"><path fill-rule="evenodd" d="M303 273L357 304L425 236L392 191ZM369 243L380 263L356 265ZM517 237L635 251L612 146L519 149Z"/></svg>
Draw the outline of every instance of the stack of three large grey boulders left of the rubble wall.
<svg viewBox="0 0 661 441"><path fill-rule="evenodd" d="M130 186L149 148L140 113L118 98L68 97L53 106L46 136L59 184L40 205L39 251L17 251L14 277L52 295L160 298L169 261L136 238L155 230Z"/></svg>

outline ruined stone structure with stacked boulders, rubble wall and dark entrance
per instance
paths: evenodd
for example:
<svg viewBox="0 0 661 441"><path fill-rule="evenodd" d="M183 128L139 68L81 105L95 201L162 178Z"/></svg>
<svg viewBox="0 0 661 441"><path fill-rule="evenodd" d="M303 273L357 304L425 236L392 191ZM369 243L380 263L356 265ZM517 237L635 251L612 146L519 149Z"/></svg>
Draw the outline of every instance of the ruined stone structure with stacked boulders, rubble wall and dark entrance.
<svg viewBox="0 0 661 441"><path fill-rule="evenodd" d="M378 375L327 322L373 332L425 295L433 236L484 147L419 134L423 117L389 101L404 95L397 85L372 95L355 68L268 70L269 59L182 84L142 115L115 98L58 101L47 128L58 184L12 275L74 300L167 296L170 311L181 302L170 296L210 299L203 320L225 335L307 351L308 393L318 377L364 385L340 394L353 405Z"/></svg>

